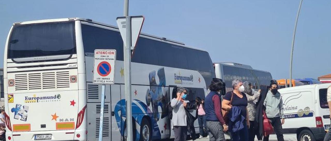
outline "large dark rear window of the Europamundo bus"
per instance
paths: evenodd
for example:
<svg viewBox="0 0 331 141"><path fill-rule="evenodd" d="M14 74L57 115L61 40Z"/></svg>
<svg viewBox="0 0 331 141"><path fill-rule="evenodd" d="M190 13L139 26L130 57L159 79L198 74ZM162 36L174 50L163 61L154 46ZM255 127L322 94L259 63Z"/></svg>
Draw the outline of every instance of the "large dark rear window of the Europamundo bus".
<svg viewBox="0 0 331 141"><path fill-rule="evenodd" d="M74 22L14 25L8 59L76 54Z"/></svg>

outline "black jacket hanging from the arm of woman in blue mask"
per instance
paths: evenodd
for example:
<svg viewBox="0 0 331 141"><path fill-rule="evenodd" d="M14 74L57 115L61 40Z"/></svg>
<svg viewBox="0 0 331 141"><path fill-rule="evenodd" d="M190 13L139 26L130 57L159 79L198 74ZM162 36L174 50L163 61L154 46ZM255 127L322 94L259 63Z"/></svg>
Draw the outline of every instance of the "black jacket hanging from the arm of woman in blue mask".
<svg viewBox="0 0 331 141"><path fill-rule="evenodd" d="M185 107L185 113L186 113L186 122L187 122L187 131L190 132L192 140L196 139L195 134L195 128L194 128L194 121L198 118L198 110L196 110L195 117L190 113L190 110L197 109L196 104L193 104L192 102L188 102Z"/></svg>

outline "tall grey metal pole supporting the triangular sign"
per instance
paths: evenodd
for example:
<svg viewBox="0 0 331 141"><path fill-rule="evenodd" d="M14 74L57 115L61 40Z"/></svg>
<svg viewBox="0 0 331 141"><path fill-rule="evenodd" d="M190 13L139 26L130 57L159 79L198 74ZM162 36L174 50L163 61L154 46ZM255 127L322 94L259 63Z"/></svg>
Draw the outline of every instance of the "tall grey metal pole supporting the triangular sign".
<svg viewBox="0 0 331 141"><path fill-rule="evenodd" d="M129 0L124 0L124 16L126 17L126 45L123 45L124 53L124 88L126 105L126 140L133 141L132 129L132 103L131 103L131 17L129 14Z"/></svg>

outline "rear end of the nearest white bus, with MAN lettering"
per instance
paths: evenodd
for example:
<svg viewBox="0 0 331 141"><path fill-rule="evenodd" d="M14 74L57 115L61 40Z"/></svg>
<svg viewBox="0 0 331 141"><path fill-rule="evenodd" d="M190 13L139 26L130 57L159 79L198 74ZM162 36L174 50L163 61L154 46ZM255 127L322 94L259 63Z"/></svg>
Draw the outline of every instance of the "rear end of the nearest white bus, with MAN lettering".
<svg viewBox="0 0 331 141"><path fill-rule="evenodd" d="M84 56L75 22L19 22L10 29L4 53L7 141L86 140Z"/></svg>

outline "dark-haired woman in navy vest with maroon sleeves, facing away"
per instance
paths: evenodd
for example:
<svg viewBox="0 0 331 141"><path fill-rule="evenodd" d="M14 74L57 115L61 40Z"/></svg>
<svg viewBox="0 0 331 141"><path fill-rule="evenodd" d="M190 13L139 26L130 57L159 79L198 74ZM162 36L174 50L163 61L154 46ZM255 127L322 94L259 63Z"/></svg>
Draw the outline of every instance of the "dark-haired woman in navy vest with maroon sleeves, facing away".
<svg viewBox="0 0 331 141"><path fill-rule="evenodd" d="M222 90L222 83L221 79L214 78L209 86L211 92L205 99L206 121L210 141L225 141L224 131L227 131L228 129L228 126L223 120L219 98L219 93Z"/></svg>

